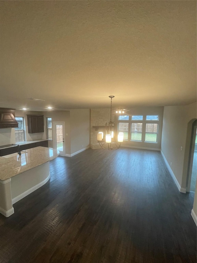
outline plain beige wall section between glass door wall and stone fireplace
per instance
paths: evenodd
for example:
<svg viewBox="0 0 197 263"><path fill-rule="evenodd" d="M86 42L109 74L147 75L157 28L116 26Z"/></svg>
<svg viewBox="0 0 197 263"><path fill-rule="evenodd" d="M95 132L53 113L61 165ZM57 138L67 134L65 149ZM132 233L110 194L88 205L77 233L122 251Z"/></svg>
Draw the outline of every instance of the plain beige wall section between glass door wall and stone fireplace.
<svg viewBox="0 0 197 263"><path fill-rule="evenodd" d="M70 110L70 154L90 147L90 109Z"/></svg>

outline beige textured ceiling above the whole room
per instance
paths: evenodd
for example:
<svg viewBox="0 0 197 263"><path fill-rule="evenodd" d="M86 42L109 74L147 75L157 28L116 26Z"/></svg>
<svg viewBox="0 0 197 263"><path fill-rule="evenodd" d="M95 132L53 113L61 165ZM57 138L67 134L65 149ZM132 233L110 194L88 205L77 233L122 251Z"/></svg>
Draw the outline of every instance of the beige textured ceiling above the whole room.
<svg viewBox="0 0 197 263"><path fill-rule="evenodd" d="M196 1L0 1L0 12L1 107L196 101Z"/></svg>

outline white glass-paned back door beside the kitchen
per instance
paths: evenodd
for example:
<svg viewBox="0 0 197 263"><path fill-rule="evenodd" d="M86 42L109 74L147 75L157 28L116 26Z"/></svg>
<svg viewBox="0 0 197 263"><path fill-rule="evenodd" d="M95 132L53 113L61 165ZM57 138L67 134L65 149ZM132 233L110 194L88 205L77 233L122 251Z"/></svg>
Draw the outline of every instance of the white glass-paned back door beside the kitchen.
<svg viewBox="0 0 197 263"><path fill-rule="evenodd" d="M54 147L59 151L60 155L65 156L65 122L53 122L54 125Z"/></svg>

